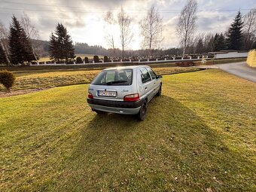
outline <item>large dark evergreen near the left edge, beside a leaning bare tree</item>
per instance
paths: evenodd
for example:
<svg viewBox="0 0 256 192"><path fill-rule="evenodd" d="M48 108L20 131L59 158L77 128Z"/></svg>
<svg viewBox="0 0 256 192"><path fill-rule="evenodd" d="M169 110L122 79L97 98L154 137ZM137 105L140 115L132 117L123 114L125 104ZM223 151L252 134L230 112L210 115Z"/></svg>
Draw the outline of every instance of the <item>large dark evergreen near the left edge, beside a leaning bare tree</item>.
<svg viewBox="0 0 256 192"><path fill-rule="evenodd" d="M35 60L32 44L26 36L24 29L20 26L20 22L14 16L12 17L8 38L11 62L13 64L23 64L23 62Z"/></svg>

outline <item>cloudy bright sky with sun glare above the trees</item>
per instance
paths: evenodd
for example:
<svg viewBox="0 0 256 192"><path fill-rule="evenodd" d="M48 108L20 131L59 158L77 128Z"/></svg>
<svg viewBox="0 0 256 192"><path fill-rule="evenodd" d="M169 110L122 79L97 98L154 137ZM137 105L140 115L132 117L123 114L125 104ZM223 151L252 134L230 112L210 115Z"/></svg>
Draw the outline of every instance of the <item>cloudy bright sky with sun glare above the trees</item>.
<svg viewBox="0 0 256 192"><path fill-rule="evenodd" d="M14 14L26 13L39 31L41 40L49 40L57 23L62 23L74 42L102 45L108 48L105 36L109 30L103 18L107 11L117 16L120 8L132 18L133 41L128 49L141 48L139 22L154 5L163 17L163 41L158 48L178 47L175 33L178 16L187 0L0 0L0 22L10 26ZM237 11L246 14L256 8L256 0L197 0L197 34L225 32ZM120 47L118 27L114 26L114 41Z"/></svg>

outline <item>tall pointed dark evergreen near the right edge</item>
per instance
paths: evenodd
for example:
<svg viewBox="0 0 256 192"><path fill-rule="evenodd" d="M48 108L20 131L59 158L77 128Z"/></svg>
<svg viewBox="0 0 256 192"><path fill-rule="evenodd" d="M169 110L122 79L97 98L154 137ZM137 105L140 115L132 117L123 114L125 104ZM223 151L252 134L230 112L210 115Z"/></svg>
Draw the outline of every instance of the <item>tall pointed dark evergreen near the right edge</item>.
<svg viewBox="0 0 256 192"><path fill-rule="evenodd" d="M228 48L232 50L240 50L242 47L242 14L238 11L233 23L228 29L227 43Z"/></svg>

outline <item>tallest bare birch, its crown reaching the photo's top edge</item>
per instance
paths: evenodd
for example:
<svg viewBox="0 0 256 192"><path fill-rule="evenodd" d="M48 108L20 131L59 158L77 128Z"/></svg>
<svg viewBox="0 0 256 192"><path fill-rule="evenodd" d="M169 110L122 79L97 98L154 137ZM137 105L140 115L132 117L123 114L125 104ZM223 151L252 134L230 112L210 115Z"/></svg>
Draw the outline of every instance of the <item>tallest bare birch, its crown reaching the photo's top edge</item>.
<svg viewBox="0 0 256 192"><path fill-rule="evenodd" d="M183 56L186 48L190 45L191 39L194 36L194 32L197 28L197 1L187 0L187 5L181 11L181 15L178 19L178 25L176 32L180 38L180 44L183 49Z"/></svg>

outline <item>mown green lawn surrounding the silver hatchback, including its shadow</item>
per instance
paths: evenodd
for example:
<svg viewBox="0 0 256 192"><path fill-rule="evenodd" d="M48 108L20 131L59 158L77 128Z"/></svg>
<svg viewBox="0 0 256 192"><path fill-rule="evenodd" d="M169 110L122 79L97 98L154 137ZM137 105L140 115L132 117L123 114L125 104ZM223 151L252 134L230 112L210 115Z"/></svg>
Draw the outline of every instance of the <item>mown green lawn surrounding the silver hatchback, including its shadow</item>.
<svg viewBox="0 0 256 192"><path fill-rule="evenodd" d="M0 191L256 190L256 84L166 75L143 122L90 111L87 88L0 99Z"/></svg>

